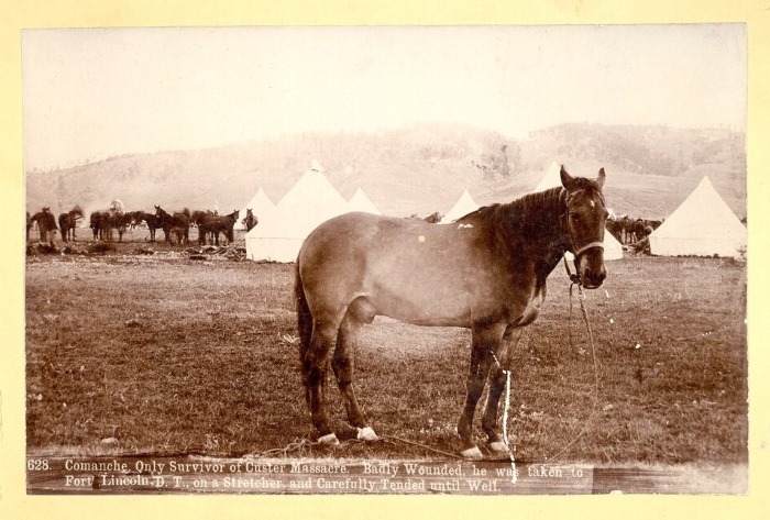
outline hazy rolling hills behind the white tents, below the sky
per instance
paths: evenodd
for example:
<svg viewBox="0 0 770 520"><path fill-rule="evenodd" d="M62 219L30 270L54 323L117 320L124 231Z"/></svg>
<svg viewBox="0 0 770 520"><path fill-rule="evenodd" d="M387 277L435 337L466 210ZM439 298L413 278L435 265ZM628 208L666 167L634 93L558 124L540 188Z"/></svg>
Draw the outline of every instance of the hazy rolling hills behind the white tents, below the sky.
<svg viewBox="0 0 770 520"><path fill-rule="evenodd" d="M479 203L532 189L551 162L571 173L607 172L608 204L631 217L666 217L708 175L746 214L745 135L727 130L563 124L516 141L458 124L371 134L302 134L231 146L127 154L26 174L26 207L88 213L114 198L127 210L240 208L262 187L277 202L317 159L340 193L362 187L387 214L446 213L464 189Z"/></svg>

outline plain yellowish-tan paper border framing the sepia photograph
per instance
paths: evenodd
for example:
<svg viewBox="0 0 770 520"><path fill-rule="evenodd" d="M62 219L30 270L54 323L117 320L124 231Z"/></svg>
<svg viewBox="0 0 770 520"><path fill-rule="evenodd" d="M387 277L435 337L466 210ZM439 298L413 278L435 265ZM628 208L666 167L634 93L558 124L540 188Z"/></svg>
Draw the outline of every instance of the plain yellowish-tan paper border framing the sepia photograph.
<svg viewBox="0 0 770 520"><path fill-rule="evenodd" d="M756 518L770 510L770 1L2 0L0 2L0 518ZM21 32L217 25L747 24L749 495L739 497L26 496ZM515 52L515 49L512 49ZM672 49L675 52L675 49ZM660 78L675 81L676 78ZM601 86L600 86L601 87ZM608 93L610 95L610 93ZM640 99L640 103L645 100ZM654 317L650 317L654 319ZM765 513L765 515L762 515Z"/></svg>

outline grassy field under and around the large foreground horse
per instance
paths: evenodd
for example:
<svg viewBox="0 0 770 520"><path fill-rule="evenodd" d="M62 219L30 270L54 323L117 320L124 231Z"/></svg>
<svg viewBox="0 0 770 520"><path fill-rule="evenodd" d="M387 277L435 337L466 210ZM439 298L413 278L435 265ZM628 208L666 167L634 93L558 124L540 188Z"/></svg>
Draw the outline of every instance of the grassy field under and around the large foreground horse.
<svg viewBox="0 0 770 520"><path fill-rule="evenodd" d="M298 373L294 266L196 262L184 247L130 254L139 245L28 258L28 451L238 456L315 439ZM647 257L608 269L585 301L598 388L563 269L549 280L543 312L517 347L508 421L517 460L746 463L745 265ZM469 343L465 330L378 318L359 347L355 383L385 440L289 455L438 456L396 439L455 452Z"/></svg>

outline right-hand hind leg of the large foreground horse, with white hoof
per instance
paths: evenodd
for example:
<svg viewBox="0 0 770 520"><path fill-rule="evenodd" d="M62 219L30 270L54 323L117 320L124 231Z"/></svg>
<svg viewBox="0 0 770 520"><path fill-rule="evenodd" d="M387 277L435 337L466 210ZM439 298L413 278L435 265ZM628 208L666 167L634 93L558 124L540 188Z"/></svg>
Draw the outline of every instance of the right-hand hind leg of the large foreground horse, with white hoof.
<svg viewBox="0 0 770 520"><path fill-rule="evenodd" d="M337 336L337 347L334 348L334 355L331 359L331 367L334 370L337 384L342 394L342 401L348 412L348 422L350 422L353 428L358 429L359 439L376 441L377 435L372 428L366 425L366 419L364 419L361 412L359 401L353 391L354 354L359 331L362 327L363 323L351 312L345 314Z"/></svg>

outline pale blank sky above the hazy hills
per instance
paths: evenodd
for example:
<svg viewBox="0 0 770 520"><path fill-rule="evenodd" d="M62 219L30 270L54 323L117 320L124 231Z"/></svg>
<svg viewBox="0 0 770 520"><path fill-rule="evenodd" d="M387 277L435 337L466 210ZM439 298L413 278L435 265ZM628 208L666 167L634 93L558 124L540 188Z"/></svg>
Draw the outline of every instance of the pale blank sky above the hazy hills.
<svg viewBox="0 0 770 520"><path fill-rule="evenodd" d="M744 24L22 33L24 168L457 122L744 131Z"/></svg>

